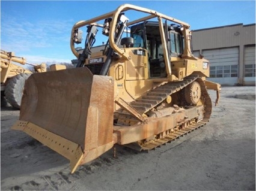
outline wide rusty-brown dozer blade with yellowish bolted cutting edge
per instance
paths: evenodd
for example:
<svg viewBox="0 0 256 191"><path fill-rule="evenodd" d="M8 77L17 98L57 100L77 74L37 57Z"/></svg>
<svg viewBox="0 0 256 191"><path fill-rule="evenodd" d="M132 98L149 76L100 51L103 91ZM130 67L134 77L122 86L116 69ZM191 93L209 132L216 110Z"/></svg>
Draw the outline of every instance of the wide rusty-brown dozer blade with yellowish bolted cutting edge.
<svg viewBox="0 0 256 191"><path fill-rule="evenodd" d="M26 132L70 160L72 173L112 148L114 81L84 68L32 74L19 121Z"/></svg>

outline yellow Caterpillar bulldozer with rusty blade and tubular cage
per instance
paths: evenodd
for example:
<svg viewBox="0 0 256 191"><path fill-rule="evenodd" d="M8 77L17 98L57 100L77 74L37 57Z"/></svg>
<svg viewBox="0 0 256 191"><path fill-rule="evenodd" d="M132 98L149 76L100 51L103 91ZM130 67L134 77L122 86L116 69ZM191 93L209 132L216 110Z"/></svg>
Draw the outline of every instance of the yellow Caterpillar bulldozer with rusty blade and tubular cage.
<svg viewBox="0 0 256 191"><path fill-rule="evenodd" d="M221 86L206 80L210 63L193 56L189 28L130 4L75 23L76 68L32 74L12 129L69 159L73 173L116 144L152 150L206 125L208 90L216 90L218 104ZM102 50L94 51L96 37L106 39Z"/></svg>

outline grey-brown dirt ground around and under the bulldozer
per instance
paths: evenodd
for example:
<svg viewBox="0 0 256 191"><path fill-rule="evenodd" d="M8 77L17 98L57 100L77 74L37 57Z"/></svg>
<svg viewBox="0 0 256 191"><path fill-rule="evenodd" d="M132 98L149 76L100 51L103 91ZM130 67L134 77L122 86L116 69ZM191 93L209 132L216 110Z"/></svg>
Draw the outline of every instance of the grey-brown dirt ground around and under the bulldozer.
<svg viewBox="0 0 256 191"><path fill-rule="evenodd" d="M1 190L255 190L255 87L222 87L197 131L149 153L117 146L117 157L110 150L75 174L60 154L10 130L18 118L1 107Z"/></svg>

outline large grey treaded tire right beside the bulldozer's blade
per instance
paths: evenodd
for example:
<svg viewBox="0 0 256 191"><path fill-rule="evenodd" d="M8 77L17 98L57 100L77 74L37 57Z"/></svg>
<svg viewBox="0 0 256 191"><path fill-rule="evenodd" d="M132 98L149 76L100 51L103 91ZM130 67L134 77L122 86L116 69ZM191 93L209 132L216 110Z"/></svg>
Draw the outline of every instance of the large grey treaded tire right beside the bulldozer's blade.
<svg viewBox="0 0 256 191"><path fill-rule="evenodd" d="M5 87L5 98L12 107L19 109L26 79L31 74L23 73L12 77Z"/></svg>

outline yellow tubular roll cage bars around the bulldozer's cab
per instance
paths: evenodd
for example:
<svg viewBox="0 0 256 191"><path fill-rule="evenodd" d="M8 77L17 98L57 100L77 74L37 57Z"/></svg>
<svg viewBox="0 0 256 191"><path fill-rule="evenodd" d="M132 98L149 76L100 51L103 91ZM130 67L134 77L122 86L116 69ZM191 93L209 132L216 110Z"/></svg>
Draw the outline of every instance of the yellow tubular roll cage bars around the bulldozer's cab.
<svg viewBox="0 0 256 191"><path fill-rule="evenodd" d="M189 24L182 22L180 20L174 19L172 17L166 16L165 14L161 14L158 13L157 11L154 10L150 10L147 8L142 8L142 7L138 7L135 5L130 5L130 4L124 4L124 5L120 5L120 7L118 7L115 11L111 11L109 13L103 14L101 16L95 17L93 19L90 20L82 20L77 22L73 28L72 28L72 32L71 32L71 37L70 37L70 47L71 50L73 52L73 54L76 57L79 57L79 53L78 51L76 51L75 49L75 44L73 41L73 37L74 37L74 33L76 29L79 29L83 26L87 26L87 25L94 25L94 26L100 26L103 28L103 25L98 24L97 22L99 22L100 20L104 20L104 19L108 19L108 18L112 18L112 22L110 24L109 27L109 45L113 48L113 50L118 53L121 57L123 57L126 60L130 60L131 57L129 56L129 54L127 54L124 50L121 50L121 48L119 48L117 46L117 44L115 44L115 25L118 22L118 16L121 13L124 13L125 11L128 10L135 10L135 11L139 11L142 13L148 13L148 16L142 17L140 19L137 20L133 20L131 22L127 22L126 26L131 26L134 25L136 23L145 21L145 20L149 20L149 19L153 19L157 17L158 23L159 23L159 31L160 31L160 36L161 36L161 41L163 44L163 57L165 59L165 65L166 65L166 72L168 75L171 75L171 65L170 65L170 59L169 59L169 53L168 53L168 48L166 46L166 37L165 37L165 30L163 28L163 23L162 23L162 19L166 19L169 20L170 22L174 22L177 23L178 25L181 25L183 27L183 37L184 37L184 51L183 54L181 55L182 57L189 57L192 56L191 54L191 50L190 50L190 37L189 37Z"/></svg>

